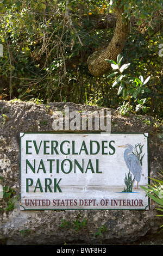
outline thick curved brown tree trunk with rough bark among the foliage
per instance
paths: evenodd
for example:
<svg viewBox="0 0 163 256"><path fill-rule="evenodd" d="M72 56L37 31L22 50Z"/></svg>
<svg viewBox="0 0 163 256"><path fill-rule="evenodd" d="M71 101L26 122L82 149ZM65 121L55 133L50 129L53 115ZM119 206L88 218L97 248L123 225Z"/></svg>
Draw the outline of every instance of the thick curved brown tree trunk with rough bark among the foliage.
<svg viewBox="0 0 163 256"><path fill-rule="evenodd" d="M118 54L122 52L129 36L130 21L128 19L123 20L123 7L115 7L115 13L117 16L116 28L108 47L105 50L94 52L87 59L89 71L93 76L101 76L109 71L110 64L106 62L105 59L113 59L116 61Z"/></svg>

